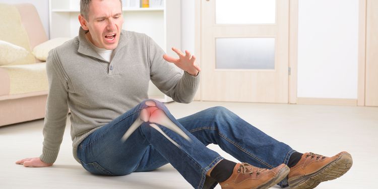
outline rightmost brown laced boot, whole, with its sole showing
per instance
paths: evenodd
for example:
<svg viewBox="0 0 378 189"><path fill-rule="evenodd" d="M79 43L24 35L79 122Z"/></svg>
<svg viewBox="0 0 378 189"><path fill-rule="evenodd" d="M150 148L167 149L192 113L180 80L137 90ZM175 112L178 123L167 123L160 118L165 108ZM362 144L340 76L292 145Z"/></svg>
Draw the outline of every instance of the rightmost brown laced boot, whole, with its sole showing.
<svg viewBox="0 0 378 189"><path fill-rule="evenodd" d="M290 189L310 189L320 182L338 178L350 169L352 163L352 156L348 152L340 152L333 157L305 153L290 168Z"/></svg>

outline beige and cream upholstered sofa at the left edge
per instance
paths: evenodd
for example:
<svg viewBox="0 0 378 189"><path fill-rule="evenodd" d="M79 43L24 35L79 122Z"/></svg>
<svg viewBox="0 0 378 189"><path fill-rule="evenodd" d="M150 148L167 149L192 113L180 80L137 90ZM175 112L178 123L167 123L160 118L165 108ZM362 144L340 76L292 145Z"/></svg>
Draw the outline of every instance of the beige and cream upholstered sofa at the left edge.
<svg viewBox="0 0 378 189"><path fill-rule="evenodd" d="M48 41L31 4L0 3L0 126L43 118L48 90L45 62L33 49Z"/></svg>

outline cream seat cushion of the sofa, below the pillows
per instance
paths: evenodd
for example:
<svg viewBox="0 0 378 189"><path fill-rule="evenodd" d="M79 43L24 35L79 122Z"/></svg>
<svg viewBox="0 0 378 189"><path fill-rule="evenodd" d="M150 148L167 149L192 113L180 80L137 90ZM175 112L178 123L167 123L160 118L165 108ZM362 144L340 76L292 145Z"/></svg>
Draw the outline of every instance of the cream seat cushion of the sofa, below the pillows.
<svg viewBox="0 0 378 189"><path fill-rule="evenodd" d="M46 63L0 66L8 73L9 95L48 90Z"/></svg>

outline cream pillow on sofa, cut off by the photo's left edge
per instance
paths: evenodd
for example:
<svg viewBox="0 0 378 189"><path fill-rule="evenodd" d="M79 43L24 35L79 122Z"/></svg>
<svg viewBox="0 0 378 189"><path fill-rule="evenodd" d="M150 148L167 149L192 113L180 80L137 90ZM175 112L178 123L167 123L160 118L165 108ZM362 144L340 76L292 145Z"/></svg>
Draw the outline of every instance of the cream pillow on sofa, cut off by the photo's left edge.
<svg viewBox="0 0 378 189"><path fill-rule="evenodd" d="M24 47L0 40L0 66L10 65L28 54Z"/></svg>

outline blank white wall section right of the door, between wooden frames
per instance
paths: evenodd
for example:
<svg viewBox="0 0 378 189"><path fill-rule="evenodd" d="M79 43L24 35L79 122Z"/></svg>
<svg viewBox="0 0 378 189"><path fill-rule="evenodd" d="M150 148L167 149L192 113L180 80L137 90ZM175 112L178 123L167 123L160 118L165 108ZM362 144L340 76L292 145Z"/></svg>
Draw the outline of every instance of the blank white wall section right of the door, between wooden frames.
<svg viewBox="0 0 378 189"><path fill-rule="evenodd" d="M301 0L298 97L357 99L358 0Z"/></svg>

